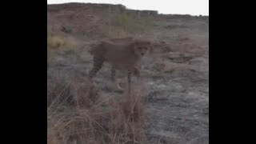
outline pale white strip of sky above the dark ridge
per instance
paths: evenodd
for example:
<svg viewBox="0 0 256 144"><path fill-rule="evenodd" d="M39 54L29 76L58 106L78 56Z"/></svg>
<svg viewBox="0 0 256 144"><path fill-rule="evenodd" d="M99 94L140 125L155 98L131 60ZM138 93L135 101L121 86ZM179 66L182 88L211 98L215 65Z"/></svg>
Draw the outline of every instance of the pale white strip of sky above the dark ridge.
<svg viewBox="0 0 256 144"><path fill-rule="evenodd" d="M209 16L209 0L47 0L47 4L67 2L122 4L133 10L158 10L158 14Z"/></svg>

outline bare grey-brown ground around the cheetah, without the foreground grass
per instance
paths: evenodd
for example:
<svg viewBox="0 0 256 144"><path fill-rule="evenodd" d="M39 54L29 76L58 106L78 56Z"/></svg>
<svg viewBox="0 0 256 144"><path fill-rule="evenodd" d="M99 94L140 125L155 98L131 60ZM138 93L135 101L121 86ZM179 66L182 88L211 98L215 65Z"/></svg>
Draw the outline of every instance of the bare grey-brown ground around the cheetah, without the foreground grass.
<svg viewBox="0 0 256 144"><path fill-rule="evenodd" d="M76 86L86 82L87 70L92 67L87 53L90 43L125 36L150 38L153 53L143 63L142 80L134 78L134 90L142 93L146 111L143 143L209 143L208 17L150 15L146 24L141 24L145 29L136 26L133 31L129 18L119 18L129 25L110 23L110 10L108 5L79 3L48 6L48 32L58 35L60 41L57 48L47 47L49 90L56 79L80 79ZM124 76L118 74L118 78ZM110 84L107 64L95 82L103 97L122 98L122 92Z"/></svg>

